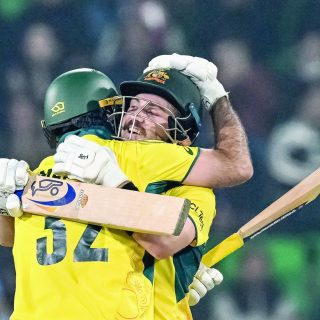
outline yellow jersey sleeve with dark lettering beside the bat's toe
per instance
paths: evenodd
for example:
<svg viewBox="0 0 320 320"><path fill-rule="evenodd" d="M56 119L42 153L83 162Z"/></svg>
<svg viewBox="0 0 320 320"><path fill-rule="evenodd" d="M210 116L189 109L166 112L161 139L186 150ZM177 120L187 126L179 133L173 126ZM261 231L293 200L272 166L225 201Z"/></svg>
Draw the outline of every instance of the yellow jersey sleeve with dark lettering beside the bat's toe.
<svg viewBox="0 0 320 320"><path fill-rule="evenodd" d="M166 194L191 201L189 218L196 229L196 238L192 245L204 244L209 238L210 227L216 214L213 191L203 187L181 186L167 191Z"/></svg>

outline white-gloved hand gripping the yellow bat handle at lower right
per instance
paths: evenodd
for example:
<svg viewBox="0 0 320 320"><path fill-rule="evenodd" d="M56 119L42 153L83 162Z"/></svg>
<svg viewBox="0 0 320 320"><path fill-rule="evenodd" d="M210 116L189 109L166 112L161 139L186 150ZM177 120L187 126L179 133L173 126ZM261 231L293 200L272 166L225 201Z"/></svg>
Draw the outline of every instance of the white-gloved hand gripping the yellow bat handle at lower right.
<svg viewBox="0 0 320 320"><path fill-rule="evenodd" d="M223 275L220 271L214 268L207 268L200 263L200 267L190 285L189 305L196 305L209 290L219 285L222 280Z"/></svg>

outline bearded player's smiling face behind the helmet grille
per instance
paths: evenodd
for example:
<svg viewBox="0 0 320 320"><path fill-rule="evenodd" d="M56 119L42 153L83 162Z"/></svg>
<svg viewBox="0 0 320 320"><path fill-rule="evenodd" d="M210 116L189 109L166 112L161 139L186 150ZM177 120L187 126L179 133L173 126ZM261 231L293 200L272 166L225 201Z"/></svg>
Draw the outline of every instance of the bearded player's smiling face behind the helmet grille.
<svg viewBox="0 0 320 320"><path fill-rule="evenodd" d="M168 141L168 118L175 117L176 112L168 101L157 95L139 94L131 99L123 117L121 137L128 140Z"/></svg>

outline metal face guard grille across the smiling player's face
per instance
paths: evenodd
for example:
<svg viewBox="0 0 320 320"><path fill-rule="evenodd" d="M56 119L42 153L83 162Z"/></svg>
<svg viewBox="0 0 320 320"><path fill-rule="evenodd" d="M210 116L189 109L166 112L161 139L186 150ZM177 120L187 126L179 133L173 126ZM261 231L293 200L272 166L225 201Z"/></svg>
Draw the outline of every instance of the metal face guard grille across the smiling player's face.
<svg viewBox="0 0 320 320"><path fill-rule="evenodd" d="M106 99L108 100L108 99ZM130 110L130 102L136 100L139 102L139 108L135 110ZM113 112L108 115L108 121L111 124L113 131L115 132L114 138L119 140L132 140L133 133L137 128L137 122L140 121L150 121L157 128L157 131L161 131L164 137L163 140L169 141L175 144L190 145L191 140L188 131L185 127L188 127L188 123L193 121L191 112L186 117L181 117L178 111L173 111L171 108L165 107L159 103L151 101L142 97L133 96L123 96L118 97L117 101L114 99L109 99L109 102L105 102L105 105L113 105ZM158 107L162 109L165 114L168 115L167 125L159 123L148 116L148 108ZM176 110L176 108L174 108ZM130 125L127 129L129 136L124 137L124 119L130 117Z"/></svg>

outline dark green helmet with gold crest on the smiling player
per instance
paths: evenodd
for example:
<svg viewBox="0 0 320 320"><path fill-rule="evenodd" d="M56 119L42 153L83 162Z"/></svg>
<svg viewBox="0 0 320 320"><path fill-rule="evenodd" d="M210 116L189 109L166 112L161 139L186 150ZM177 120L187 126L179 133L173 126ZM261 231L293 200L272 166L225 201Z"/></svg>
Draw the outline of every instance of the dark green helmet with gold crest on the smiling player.
<svg viewBox="0 0 320 320"><path fill-rule="evenodd" d="M167 135L173 143L190 145L198 136L201 126L200 91L180 71L165 68L146 72L136 81L121 83L120 92L129 98L142 93L156 94L171 103L178 111L178 115L168 119ZM124 108L128 108L127 101Z"/></svg>

